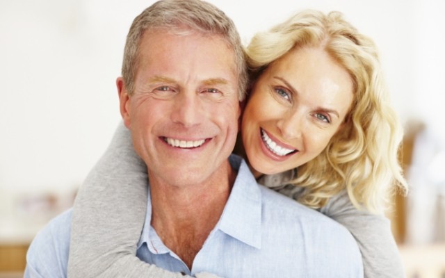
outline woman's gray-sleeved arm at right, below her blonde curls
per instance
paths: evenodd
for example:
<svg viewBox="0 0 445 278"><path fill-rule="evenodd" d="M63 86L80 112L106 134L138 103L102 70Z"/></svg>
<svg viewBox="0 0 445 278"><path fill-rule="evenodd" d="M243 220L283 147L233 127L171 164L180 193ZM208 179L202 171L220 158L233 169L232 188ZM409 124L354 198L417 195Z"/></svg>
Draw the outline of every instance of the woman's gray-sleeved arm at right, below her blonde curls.
<svg viewBox="0 0 445 278"><path fill-rule="evenodd" d="M263 179L267 180L273 179ZM280 177L275 180L280 180ZM276 190L293 199L297 199L302 193L302 188L291 185L277 187ZM357 240L362 253L364 277L405 277L405 269L391 232L390 222L384 215L359 211L350 202L346 190L332 197L326 206L321 208L321 213L342 224Z"/></svg>

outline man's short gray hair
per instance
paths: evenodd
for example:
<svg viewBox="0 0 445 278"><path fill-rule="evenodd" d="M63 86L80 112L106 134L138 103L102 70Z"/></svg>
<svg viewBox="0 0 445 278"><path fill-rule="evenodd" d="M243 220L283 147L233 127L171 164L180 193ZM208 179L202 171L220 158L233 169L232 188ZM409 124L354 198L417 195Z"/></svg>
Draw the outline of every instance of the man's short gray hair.
<svg viewBox="0 0 445 278"><path fill-rule="evenodd" d="M211 3L201 0L161 0L138 15L127 35L122 62L122 77L129 95L134 92L134 79L138 70L138 50L145 31L152 28L168 28L184 34L197 31L204 35L219 35L234 51L238 76L238 99L245 98L248 74L241 39L232 19Z"/></svg>

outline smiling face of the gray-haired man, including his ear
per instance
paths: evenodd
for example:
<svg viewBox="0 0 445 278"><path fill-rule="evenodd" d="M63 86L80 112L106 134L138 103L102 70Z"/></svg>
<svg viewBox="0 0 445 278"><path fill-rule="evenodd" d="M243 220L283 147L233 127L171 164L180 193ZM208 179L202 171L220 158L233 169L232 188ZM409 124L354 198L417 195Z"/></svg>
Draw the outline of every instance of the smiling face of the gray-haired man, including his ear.
<svg viewBox="0 0 445 278"><path fill-rule="evenodd" d="M241 114L232 49L215 35L147 31L138 61L134 94L128 97L122 79L118 88L151 181L187 186L221 171Z"/></svg>

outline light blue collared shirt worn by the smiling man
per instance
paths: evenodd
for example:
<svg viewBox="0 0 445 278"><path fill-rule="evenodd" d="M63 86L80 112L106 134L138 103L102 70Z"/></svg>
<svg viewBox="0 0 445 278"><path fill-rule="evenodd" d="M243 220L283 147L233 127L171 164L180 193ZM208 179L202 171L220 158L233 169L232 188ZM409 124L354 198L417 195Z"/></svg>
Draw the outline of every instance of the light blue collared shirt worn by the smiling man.
<svg viewBox="0 0 445 278"><path fill-rule="evenodd" d="M230 162L238 169L232 193L191 270L150 225L150 196L138 243L139 259L187 275L211 272L220 277L363 277L362 256L346 228L259 186L241 158L231 156ZM27 273L44 270L51 277L66 275L71 216L72 211L60 215L33 240Z"/></svg>

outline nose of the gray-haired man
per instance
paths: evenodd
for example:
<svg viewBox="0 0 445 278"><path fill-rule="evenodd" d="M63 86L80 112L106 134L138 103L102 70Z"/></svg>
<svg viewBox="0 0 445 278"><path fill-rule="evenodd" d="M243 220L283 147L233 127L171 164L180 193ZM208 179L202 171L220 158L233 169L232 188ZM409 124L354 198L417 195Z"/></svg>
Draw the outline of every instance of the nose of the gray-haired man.
<svg viewBox="0 0 445 278"><path fill-rule="evenodd" d="M203 117L202 104L196 92L181 92L175 99L172 121L185 127L198 124Z"/></svg>

